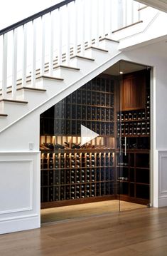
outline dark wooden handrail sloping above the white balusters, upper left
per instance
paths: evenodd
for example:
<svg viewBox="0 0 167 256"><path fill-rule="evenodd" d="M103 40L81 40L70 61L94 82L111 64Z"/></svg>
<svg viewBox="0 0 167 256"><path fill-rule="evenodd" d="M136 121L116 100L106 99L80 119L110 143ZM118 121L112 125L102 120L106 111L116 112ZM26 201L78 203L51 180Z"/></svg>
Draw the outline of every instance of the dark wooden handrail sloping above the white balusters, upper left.
<svg viewBox="0 0 167 256"><path fill-rule="evenodd" d="M39 17L41 17L41 16L43 16L45 14L48 14L51 11L54 11L55 9L59 9L60 7L65 6L66 4L69 4L72 1L75 1L75 0L65 0L65 1L62 1L61 3L55 4L55 5L47 8L47 9L45 9L43 11L39 11L37 14L33 14L33 15L27 17L26 19L22 19L21 21L18 21L15 24L12 24L11 26L7 26L6 28L0 30L0 36L3 35L3 34L6 34L7 32L9 32L9 31L11 31L13 29L18 28L18 26L23 26L24 24L26 24L26 23L28 23L30 21L33 21L34 19L38 19Z"/></svg>

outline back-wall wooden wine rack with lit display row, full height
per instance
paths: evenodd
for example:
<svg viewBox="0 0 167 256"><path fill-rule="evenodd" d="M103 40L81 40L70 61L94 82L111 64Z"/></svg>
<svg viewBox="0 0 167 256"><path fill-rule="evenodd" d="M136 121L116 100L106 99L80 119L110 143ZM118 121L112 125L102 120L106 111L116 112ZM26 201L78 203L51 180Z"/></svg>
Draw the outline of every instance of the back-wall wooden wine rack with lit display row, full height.
<svg viewBox="0 0 167 256"><path fill-rule="evenodd" d="M97 77L41 115L41 207L115 198L114 78ZM80 145L81 125L99 134Z"/></svg>

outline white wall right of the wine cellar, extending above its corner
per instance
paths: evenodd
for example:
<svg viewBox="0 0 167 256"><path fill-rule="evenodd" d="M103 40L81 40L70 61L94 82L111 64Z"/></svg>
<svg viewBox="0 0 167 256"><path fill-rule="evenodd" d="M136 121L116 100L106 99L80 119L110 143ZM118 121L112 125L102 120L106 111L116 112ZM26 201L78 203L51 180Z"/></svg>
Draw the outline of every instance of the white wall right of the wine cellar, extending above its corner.
<svg viewBox="0 0 167 256"><path fill-rule="evenodd" d="M163 42L165 43L165 42ZM131 51L124 52L124 58L136 63L142 63L153 67L151 78L152 102L151 102L151 137L153 144L151 155L153 166L151 178L153 178L153 206L167 206L167 56L162 53L162 43L152 43ZM164 49L163 49L164 50ZM159 53L159 56L158 56Z"/></svg>

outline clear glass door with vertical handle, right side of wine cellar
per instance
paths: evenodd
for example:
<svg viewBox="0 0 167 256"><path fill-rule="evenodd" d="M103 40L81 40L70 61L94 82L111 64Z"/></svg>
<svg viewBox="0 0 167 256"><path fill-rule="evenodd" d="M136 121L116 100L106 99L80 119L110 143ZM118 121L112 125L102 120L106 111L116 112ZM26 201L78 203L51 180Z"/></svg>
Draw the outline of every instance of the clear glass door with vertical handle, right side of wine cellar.
<svg viewBox="0 0 167 256"><path fill-rule="evenodd" d="M117 188L122 211L150 200L150 69L120 61L119 93Z"/></svg>

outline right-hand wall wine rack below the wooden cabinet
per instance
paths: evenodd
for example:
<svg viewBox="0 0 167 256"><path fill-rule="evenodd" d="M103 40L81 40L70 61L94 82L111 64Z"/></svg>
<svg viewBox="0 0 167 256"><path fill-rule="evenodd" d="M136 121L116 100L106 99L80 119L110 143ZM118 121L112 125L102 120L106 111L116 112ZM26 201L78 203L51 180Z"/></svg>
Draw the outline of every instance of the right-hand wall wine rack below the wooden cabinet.
<svg viewBox="0 0 167 256"><path fill-rule="evenodd" d="M122 200L142 204L149 203L150 197L149 83L145 95L144 108L117 112L117 194Z"/></svg>

